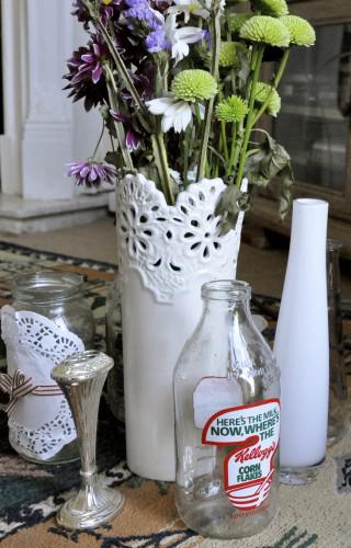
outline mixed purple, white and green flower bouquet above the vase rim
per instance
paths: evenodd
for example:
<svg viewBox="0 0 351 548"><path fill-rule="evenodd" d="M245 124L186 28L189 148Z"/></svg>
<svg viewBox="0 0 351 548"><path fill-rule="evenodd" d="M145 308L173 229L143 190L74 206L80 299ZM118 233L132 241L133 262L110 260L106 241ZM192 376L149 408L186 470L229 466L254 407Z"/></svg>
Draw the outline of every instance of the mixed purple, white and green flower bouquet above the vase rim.
<svg viewBox="0 0 351 548"><path fill-rule="evenodd" d="M69 165L79 184L111 182L115 170L151 178L173 205L190 182L220 176L217 213L247 209L258 186L281 181L281 213L293 181L288 153L268 134L253 134L263 114L276 116L278 85L291 47L312 46L310 24L290 15L285 0L78 0L73 14L90 35L68 61L67 89L89 111L100 106L111 136L107 164ZM271 81L261 80L275 59ZM261 130L262 132L262 130ZM248 192L240 192L242 178Z"/></svg>

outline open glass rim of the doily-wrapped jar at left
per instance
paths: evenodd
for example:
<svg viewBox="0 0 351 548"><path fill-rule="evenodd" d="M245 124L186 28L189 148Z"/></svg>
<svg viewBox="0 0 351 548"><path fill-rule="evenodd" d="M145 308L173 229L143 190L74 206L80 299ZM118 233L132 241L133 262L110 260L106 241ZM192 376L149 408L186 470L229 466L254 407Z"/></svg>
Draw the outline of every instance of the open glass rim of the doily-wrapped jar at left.
<svg viewBox="0 0 351 548"><path fill-rule="evenodd" d="M16 300L33 305L60 302L79 295L83 277L70 272L35 272L14 278L13 295Z"/></svg>

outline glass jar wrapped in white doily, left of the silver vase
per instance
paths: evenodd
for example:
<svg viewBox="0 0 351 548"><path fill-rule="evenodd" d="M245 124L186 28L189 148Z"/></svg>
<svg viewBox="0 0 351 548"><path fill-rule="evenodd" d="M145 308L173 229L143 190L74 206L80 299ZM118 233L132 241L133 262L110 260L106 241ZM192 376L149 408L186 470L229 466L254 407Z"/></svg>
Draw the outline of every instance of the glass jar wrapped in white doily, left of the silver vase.
<svg viewBox="0 0 351 548"><path fill-rule="evenodd" d="M79 458L66 399L61 393L41 396L53 389L49 376L55 363L78 350L92 349L94 319L82 283L82 276L64 272L36 272L14 279L12 308L21 340L9 336L5 341L8 373L14 377L15 370L24 370L33 385L45 386L16 401L16 412L9 414L9 437L15 450L34 463L53 465ZM36 396L41 390L44 393ZM65 439L69 442L65 444Z"/></svg>

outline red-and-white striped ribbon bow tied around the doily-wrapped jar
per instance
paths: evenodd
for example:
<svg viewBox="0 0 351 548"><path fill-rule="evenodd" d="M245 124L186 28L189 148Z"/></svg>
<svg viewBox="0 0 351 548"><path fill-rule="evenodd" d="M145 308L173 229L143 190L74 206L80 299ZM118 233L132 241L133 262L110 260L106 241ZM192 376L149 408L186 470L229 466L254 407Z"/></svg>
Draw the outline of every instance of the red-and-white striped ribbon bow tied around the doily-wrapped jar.
<svg viewBox="0 0 351 548"><path fill-rule="evenodd" d="M58 386L55 385L39 385L35 386L31 383L32 377L26 377L22 369L16 369L13 376L8 373L0 374L0 390L9 395L9 402L1 404L2 409L8 415L13 412L20 398L32 393L33 396L60 396L63 392Z"/></svg>

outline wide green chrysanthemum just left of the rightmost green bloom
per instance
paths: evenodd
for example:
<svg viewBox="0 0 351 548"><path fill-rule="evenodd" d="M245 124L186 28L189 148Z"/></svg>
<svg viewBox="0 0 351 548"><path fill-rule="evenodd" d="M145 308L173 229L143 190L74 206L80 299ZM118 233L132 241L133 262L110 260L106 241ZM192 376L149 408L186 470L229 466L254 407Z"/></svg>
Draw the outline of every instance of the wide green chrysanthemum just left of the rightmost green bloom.
<svg viewBox="0 0 351 548"><path fill-rule="evenodd" d="M278 47L287 47L290 44L287 27L280 19L270 18L269 15L250 18L241 27L240 37Z"/></svg>

